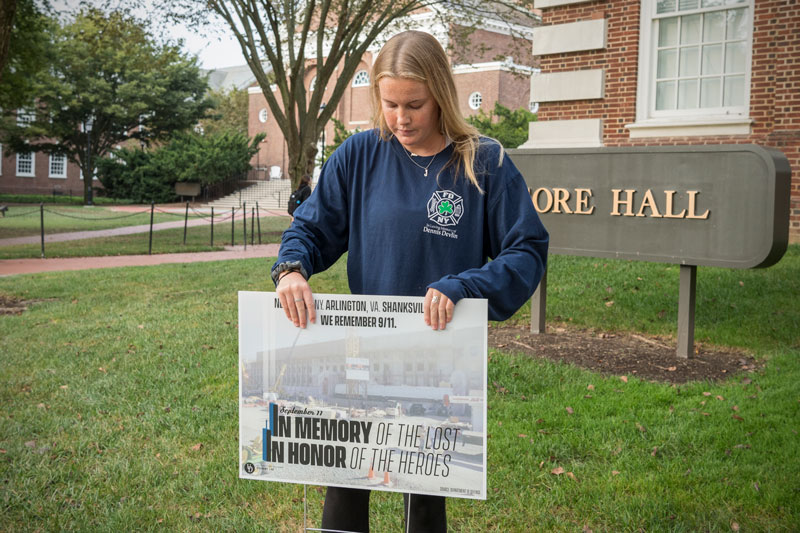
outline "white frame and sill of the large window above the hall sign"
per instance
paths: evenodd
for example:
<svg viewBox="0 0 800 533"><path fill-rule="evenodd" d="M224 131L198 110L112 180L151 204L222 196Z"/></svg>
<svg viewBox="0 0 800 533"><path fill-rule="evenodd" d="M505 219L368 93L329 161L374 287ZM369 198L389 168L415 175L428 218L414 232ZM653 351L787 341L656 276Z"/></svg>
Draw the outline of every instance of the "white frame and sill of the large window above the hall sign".
<svg viewBox="0 0 800 533"><path fill-rule="evenodd" d="M636 90L636 122L628 124L631 138L699 135L746 135L750 133L750 82L753 57L754 0L746 0L748 10L747 56L745 59L745 92L742 106L720 108L696 108L655 110L656 66L657 66L657 0L641 0L639 32L639 74ZM676 0L679 1L679 0ZM733 9L733 5L718 8L699 8L678 11L674 16L706 13L714 10ZM673 16L673 15L670 15Z"/></svg>

